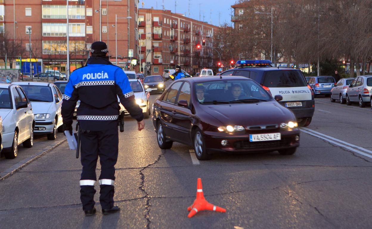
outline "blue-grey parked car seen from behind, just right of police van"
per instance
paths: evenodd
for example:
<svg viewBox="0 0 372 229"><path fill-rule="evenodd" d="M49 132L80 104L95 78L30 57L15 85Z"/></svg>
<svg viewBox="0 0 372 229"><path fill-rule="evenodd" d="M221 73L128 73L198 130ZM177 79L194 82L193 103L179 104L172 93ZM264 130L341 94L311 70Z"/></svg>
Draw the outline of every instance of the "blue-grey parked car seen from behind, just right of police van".
<svg viewBox="0 0 372 229"><path fill-rule="evenodd" d="M308 84L314 92L314 97L317 95L328 96L331 90L336 86L336 80L333 76L314 76L309 79Z"/></svg>

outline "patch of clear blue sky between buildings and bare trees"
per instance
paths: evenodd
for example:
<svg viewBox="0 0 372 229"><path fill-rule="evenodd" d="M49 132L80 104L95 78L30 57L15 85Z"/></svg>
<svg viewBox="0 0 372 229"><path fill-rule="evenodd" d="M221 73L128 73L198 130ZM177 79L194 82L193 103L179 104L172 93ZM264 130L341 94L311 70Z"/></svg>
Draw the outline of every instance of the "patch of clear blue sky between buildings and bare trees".
<svg viewBox="0 0 372 229"><path fill-rule="evenodd" d="M235 0L140 0L140 8L142 8L142 2L145 3L143 8L161 10L171 10L174 13L174 2L176 2L176 13L185 14L189 17L189 3L190 3L190 18L199 20L199 4L201 21L208 22L212 20L212 24L219 26L225 22L231 22L231 5L235 3ZM212 14L211 14L212 12ZM219 16L220 13L220 16ZM203 20L204 15L204 20Z"/></svg>

